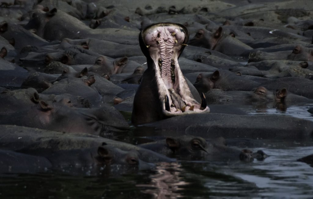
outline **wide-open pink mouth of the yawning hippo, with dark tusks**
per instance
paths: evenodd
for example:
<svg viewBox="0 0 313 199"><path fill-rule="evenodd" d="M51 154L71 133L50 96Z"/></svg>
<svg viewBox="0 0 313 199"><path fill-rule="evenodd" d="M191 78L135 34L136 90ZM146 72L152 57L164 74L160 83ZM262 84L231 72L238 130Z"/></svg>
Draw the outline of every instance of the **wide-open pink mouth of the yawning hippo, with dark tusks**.
<svg viewBox="0 0 313 199"><path fill-rule="evenodd" d="M204 94L201 104L192 96L178 64L188 38L187 28L175 23L152 24L139 35L148 67L155 71L162 112L169 117L209 111Z"/></svg>

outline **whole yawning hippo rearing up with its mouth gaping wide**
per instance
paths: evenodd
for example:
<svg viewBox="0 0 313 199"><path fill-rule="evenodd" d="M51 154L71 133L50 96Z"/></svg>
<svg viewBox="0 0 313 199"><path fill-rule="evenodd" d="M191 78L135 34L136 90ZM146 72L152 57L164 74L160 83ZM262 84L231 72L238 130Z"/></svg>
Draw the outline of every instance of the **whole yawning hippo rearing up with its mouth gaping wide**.
<svg viewBox="0 0 313 199"><path fill-rule="evenodd" d="M208 112L204 95L196 101L178 65L188 41L186 27L176 23L152 24L139 34L148 69L134 98L134 124L153 122L189 113Z"/></svg>

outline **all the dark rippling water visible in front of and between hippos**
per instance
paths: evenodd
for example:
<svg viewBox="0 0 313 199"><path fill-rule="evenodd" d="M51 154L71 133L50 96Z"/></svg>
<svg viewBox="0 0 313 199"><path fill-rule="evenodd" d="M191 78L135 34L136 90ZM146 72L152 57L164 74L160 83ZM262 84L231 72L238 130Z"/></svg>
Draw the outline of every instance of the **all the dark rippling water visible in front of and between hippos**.
<svg viewBox="0 0 313 199"><path fill-rule="evenodd" d="M312 104L241 107L250 114L285 114L313 121ZM126 117L129 115L125 114ZM165 132L166 134L166 132ZM133 144L148 142L152 132L129 132L116 138ZM312 198L313 168L296 159L313 153L308 141L263 140L269 155L254 162L160 162L153 170L122 167L64 168L38 174L2 174L0 198Z"/></svg>

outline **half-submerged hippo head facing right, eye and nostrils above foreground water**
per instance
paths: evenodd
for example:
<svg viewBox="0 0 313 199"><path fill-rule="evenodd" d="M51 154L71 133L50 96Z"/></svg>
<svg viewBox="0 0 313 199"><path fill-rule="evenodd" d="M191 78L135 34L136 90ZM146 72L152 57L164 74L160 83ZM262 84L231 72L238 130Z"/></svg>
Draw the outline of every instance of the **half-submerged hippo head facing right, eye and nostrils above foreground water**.
<svg viewBox="0 0 313 199"><path fill-rule="evenodd" d="M202 137L180 136L167 137L165 140L149 142L140 147L183 160L209 160L209 161L253 161L254 158L262 160L267 155L259 150L256 153L248 149L240 151L234 147L227 147L225 139L218 137L206 141ZM263 155L263 156L262 156Z"/></svg>

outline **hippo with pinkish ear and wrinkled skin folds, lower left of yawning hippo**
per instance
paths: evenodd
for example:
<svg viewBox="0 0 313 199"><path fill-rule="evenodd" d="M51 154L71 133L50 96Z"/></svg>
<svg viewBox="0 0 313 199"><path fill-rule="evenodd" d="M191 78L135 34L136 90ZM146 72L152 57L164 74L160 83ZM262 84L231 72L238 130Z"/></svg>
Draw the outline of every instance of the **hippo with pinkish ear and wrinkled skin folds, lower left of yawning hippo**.
<svg viewBox="0 0 313 199"><path fill-rule="evenodd" d="M64 103L68 101L48 103L41 100L36 106L23 107L19 112L1 114L0 123L102 136L126 132L129 128L124 117L113 107L74 108Z"/></svg>

